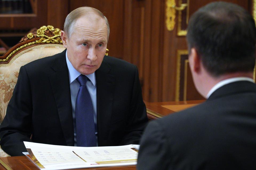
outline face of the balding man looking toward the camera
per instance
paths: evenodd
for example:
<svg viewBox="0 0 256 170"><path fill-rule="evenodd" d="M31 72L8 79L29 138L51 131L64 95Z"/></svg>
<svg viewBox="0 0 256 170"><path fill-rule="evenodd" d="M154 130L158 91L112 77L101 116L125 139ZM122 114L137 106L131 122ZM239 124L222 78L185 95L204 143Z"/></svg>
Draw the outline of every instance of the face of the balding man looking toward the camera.
<svg viewBox="0 0 256 170"><path fill-rule="evenodd" d="M91 18L91 19L90 19ZM102 18L77 19L69 39L62 32L62 41L67 48L67 57L81 74L94 73L100 66L107 48L107 25Z"/></svg>

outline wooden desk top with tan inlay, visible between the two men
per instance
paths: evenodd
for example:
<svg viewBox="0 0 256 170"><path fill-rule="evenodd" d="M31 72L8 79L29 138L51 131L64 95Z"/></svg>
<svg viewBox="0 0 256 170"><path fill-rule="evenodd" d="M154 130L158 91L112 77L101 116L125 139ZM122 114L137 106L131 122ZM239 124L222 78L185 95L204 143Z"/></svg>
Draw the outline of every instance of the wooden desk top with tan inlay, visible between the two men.
<svg viewBox="0 0 256 170"><path fill-rule="evenodd" d="M155 120L168 114L175 113L194 105L203 103L205 100L191 101L169 101L169 102L145 102L147 108L147 117L150 120Z"/></svg>

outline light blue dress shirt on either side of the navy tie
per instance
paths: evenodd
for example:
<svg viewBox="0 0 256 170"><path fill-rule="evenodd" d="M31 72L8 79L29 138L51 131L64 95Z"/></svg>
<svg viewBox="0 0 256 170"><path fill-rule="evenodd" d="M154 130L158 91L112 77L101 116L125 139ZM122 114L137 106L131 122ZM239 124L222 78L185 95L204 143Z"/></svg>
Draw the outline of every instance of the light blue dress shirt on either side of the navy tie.
<svg viewBox="0 0 256 170"><path fill-rule="evenodd" d="M69 84L70 84L70 94L71 94L71 105L72 105L72 114L73 114L73 124L74 124L74 144L77 146L77 133L76 133L76 122L75 122L75 102L77 99L77 94L80 88L80 84L76 80L76 78L81 75L70 63L69 59L67 58L67 51L66 51L66 61L67 61L67 68L69 70ZM95 73L88 74L86 77L89 78L90 81L86 82L86 87L89 91L91 96L91 101L93 104L93 116L94 116L94 125L95 125L95 135L96 135L96 143L98 146L98 133L97 133L97 90L96 90L96 77Z"/></svg>

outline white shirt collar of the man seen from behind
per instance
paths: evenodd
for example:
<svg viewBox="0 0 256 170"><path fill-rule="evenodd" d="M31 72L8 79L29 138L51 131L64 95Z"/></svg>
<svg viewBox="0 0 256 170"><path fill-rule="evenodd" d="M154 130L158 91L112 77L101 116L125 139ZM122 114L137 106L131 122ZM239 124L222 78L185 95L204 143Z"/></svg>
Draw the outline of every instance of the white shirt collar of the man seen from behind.
<svg viewBox="0 0 256 170"><path fill-rule="evenodd" d="M220 88L226 84L238 82L238 81L249 81L249 82L254 83L254 80L249 77L235 77L235 78L225 79L225 80L222 80L222 81L218 82L217 84L215 84L215 86L213 86L213 88L211 88L211 90L208 92L206 98L208 99L210 97L210 95L213 94L213 92L216 91L218 88Z"/></svg>

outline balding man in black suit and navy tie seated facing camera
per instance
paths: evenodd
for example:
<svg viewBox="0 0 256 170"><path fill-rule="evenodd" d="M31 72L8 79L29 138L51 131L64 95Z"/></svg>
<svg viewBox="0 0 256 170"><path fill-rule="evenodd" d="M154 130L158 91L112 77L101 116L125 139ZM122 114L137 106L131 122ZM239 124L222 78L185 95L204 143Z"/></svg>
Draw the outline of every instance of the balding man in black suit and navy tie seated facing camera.
<svg viewBox="0 0 256 170"><path fill-rule="evenodd" d="M19 72L0 126L2 149L26 151L23 141L67 146L138 144L147 124L138 69L105 56L106 17L81 7L65 20L66 50Z"/></svg>

